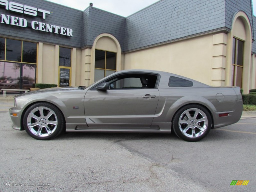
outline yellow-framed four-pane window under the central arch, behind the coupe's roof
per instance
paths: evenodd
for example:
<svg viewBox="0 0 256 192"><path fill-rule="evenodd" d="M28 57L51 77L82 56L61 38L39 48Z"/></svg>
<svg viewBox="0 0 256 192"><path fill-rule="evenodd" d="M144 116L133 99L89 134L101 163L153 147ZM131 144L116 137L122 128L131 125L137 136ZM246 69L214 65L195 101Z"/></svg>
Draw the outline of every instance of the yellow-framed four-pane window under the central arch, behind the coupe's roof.
<svg viewBox="0 0 256 192"><path fill-rule="evenodd" d="M116 72L116 53L95 49L94 81Z"/></svg>

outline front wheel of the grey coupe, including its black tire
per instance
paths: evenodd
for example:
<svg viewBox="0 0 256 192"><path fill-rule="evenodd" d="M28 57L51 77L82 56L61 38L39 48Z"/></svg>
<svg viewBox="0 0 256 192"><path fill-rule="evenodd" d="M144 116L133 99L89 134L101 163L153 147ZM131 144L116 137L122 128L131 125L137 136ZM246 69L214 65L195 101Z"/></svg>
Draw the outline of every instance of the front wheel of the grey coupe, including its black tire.
<svg viewBox="0 0 256 192"><path fill-rule="evenodd" d="M31 105L24 114L26 132L38 140L50 140L65 128L64 117L55 105L46 102Z"/></svg>

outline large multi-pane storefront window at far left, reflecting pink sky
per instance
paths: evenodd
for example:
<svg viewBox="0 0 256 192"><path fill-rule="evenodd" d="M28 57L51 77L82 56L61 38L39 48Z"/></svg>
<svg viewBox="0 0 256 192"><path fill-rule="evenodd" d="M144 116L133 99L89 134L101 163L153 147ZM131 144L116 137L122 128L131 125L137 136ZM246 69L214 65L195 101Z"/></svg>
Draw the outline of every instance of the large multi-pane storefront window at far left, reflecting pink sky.
<svg viewBox="0 0 256 192"><path fill-rule="evenodd" d="M0 38L0 89L34 87L36 62L36 43Z"/></svg>

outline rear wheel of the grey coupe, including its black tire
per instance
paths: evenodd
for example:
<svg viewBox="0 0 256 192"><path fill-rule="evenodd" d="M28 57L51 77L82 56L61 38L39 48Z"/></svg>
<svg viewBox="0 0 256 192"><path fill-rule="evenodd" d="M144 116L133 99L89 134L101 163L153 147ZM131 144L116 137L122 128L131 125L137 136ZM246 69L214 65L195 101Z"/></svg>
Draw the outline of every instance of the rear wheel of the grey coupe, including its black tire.
<svg viewBox="0 0 256 192"><path fill-rule="evenodd" d="M185 141L199 141L211 129L211 115L201 105L190 104L179 109L174 115L172 126L175 134Z"/></svg>

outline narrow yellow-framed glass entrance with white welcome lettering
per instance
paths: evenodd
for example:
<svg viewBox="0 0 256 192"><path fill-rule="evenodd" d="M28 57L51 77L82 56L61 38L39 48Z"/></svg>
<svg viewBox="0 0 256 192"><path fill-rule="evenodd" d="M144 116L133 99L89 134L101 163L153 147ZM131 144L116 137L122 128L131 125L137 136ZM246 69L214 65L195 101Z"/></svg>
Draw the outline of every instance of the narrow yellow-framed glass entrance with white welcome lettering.
<svg viewBox="0 0 256 192"><path fill-rule="evenodd" d="M59 87L69 87L71 71L71 49L60 47L59 54Z"/></svg>

